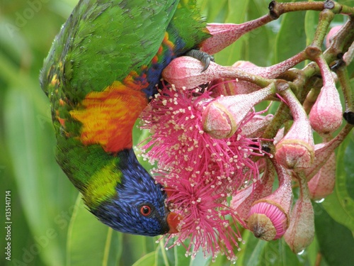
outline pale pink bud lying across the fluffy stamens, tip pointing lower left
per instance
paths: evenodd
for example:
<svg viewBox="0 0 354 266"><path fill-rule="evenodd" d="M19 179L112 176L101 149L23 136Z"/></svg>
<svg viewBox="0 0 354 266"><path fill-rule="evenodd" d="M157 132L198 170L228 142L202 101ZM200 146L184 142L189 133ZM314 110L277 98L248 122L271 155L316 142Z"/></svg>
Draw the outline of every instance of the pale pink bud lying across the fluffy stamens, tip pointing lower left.
<svg viewBox="0 0 354 266"><path fill-rule="evenodd" d="M212 138L229 138L239 128L252 107L275 92L265 87L251 94L219 97L207 105L202 113L203 130Z"/></svg>

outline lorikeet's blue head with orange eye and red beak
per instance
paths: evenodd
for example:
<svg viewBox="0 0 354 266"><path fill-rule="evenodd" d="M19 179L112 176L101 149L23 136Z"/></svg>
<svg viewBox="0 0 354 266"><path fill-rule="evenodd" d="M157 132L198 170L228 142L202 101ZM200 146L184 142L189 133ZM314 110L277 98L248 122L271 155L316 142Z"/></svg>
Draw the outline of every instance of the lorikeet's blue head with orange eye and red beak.
<svg viewBox="0 0 354 266"><path fill-rule="evenodd" d="M139 164L133 150L123 150L118 156L122 182L116 187L117 195L91 212L123 233L148 236L176 233L169 222L175 216L166 208L166 193L161 185Z"/></svg>

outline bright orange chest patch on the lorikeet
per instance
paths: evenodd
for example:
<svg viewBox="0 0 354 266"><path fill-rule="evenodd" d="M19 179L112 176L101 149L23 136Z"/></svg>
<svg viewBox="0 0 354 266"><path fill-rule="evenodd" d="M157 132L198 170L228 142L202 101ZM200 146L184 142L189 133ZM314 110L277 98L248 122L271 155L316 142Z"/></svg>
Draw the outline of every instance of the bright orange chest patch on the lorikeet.
<svg viewBox="0 0 354 266"><path fill-rule="evenodd" d="M147 106L144 92L113 82L103 92L91 92L71 116L82 123L80 140L100 144L108 153L132 148L132 128Z"/></svg>

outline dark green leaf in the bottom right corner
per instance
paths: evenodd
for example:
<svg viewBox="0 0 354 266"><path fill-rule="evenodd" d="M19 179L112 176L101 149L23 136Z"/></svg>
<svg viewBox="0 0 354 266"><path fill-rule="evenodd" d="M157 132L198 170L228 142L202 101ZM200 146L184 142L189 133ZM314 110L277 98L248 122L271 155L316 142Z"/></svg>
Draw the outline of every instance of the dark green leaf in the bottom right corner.
<svg viewBox="0 0 354 266"><path fill-rule="evenodd" d="M314 204L314 213L319 248L329 265L346 266L354 262L353 232L336 223L321 204Z"/></svg>

